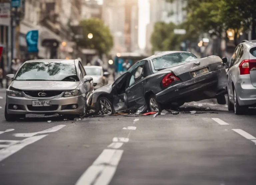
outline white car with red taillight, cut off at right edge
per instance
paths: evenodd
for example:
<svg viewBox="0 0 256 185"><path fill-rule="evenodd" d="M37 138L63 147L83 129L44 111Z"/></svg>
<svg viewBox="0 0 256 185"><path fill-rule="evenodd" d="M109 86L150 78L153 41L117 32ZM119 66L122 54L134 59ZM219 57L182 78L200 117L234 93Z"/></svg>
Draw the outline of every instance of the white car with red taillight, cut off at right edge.
<svg viewBox="0 0 256 185"><path fill-rule="evenodd" d="M242 41L228 66L228 110L245 113L256 107L256 40Z"/></svg>

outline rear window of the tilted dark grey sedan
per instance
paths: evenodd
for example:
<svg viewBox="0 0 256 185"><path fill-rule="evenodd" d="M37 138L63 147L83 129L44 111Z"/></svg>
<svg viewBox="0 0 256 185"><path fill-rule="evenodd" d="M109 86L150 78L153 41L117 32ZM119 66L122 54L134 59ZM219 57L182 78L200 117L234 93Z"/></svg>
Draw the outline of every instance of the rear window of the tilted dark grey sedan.
<svg viewBox="0 0 256 185"><path fill-rule="evenodd" d="M155 70L166 69L175 65L195 60L197 57L192 53L173 53L152 59Z"/></svg>

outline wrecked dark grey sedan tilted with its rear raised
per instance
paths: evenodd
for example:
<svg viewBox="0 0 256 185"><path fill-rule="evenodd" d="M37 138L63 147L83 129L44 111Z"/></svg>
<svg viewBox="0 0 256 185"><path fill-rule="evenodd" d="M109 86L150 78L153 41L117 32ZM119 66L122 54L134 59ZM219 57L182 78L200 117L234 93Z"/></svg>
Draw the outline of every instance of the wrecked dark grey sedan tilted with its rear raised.
<svg viewBox="0 0 256 185"><path fill-rule="evenodd" d="M145 105L150 111L161 112L211 98L226 104L226 62L227 58L197 58L183 51L153 55L134 64L112 85L95 90L91 112L113 114Z"/></svg>

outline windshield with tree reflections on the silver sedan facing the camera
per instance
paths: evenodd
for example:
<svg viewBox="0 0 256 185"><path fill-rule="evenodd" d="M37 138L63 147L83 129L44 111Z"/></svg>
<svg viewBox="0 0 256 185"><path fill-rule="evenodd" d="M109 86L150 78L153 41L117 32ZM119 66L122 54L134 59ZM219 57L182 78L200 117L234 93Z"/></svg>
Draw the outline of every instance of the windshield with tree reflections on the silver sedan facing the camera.
<svg viewBox="0 0 256 185"><path fill-rule="evenodd" d="M62 81L71 76L76 76L76 68L74 64L28 62L18 71L15 80Z"/></svg>

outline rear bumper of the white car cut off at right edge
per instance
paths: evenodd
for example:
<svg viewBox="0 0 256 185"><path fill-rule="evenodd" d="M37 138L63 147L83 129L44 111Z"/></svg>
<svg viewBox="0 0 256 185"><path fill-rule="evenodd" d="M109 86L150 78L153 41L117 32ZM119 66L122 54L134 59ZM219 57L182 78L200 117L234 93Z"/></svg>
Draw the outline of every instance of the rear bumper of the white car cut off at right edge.
<svg viewBox="0 0 256 185"><path fill-rule="evenodd" d="M256 106L256 87L252 85L250 75L240 75L235 89L239 105Z"/></svg>

